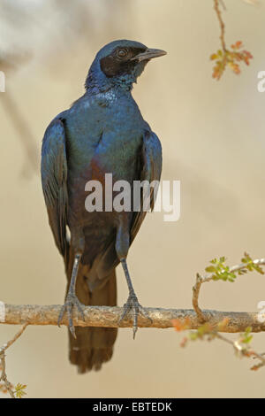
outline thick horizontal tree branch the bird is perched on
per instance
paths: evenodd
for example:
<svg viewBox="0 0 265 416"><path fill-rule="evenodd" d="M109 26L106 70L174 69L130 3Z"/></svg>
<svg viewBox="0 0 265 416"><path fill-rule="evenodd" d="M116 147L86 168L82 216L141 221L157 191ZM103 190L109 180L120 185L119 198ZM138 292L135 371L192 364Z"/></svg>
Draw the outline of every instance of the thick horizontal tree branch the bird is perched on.
<svg viewBox="0 0 265 416"><path fill-rule="evenodd" d="M0 323L11 325L57 325L57 319L61 305L38 305L38 304L4 304L1 303ZM198 319L193 309L163 309L163 308L146 308L152 323L139 316L139 327L173 327L172 320L185 322L189 319L189 328L197 329L201 327L201 321ZM86 306L84 308L85 320L82 320L79 313L73 312L73 323L79 327L118 327L117 322L120 318L122 308L110 306ZM222 332L236 333L245 331L246 327L252 327L252 332L265 331L265 322L258 320L256 312L220 312L212 310L203 310L204 317L211 325L228 319L227 323L222 326ZM67 318L64 315L62 325L67 325ZM131 317L125 317L119 327L132 327Z"/></svg>

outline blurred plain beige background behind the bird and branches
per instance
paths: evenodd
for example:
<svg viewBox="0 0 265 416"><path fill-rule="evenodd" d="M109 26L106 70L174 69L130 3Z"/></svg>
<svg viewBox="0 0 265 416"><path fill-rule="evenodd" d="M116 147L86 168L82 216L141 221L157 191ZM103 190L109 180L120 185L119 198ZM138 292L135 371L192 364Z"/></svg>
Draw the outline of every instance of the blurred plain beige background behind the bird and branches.
<svg viewBox="0 0 265 416"><path fill-rule="evenodd" d="M163 179L181 181L180 220L149 214L129 266L141 304L190 308L195 273L208 260L225 255L233 265L244 250L265 254L265 93L257 90L257 73L265 70L265 4L225 2L227 43L242 40L254 60L239 76L227 71L217 82L208 58L219 48L212 1L68 0L64 9L62 3L0 2L0 51L29 56L6 71L0 93L1 300L60 304L65 289L40 174L4 100L9 95L26 120L39 166L45 128L83 93L97 50L128 38L168 51L148 65L133 96L163 143ZM118 304L126 297L118 267ZM253 273L205 285L201 306L256 311L264 299L264 277ZM17 329L2 325L0 344ZM110 363L78 375L68 362L65 327L28 327L7 352L7 372L13 383L27 384L28 397L264 397L264 369L251 372L250 360L219 341L181 349L182 336L140 329L133 341L132 330L120 330ZM254 347L265 351L265 335L254 335Z"/></svg>

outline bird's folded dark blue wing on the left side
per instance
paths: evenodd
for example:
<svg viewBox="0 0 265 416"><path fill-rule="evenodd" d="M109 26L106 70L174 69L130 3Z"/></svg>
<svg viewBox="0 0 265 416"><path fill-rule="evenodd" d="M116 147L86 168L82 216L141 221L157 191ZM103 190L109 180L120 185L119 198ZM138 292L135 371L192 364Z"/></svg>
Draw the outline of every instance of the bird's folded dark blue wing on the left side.
<svg viewBox="0 0 265 416"><path fill-rule="evenodd" d="M67 221L67 160L64 124L54 119L42 142L42 189L47 206L49 225L57 248L64 256Z"/></svg>

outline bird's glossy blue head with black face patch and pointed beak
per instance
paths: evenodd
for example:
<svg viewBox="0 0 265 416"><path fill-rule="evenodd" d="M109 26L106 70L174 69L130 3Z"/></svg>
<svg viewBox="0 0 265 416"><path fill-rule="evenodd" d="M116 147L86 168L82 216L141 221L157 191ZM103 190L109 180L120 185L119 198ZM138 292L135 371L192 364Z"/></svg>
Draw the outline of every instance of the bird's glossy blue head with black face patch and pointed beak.
<svg viewBox="0 0 265 416"><path fill-rule="evenodd" d="M164 50L149 49L140 42L110 42L97 53L87 75L86 89L95 92L112 87L130 90L149 60L165 54Z"/></svg>

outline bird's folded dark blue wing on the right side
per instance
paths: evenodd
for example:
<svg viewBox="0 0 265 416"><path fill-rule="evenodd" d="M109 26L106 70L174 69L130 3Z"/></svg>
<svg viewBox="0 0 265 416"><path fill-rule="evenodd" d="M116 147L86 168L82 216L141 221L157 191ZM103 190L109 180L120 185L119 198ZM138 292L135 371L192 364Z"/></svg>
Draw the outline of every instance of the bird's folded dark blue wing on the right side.
<svg viewBox="0 0 265 416"><path fill-rule="evenodd" d="M143 135L143 143L141 150L141 171L140 171L140 181L160 181L161 170L162 170L162 148L161 143L152 131L146 130ZM155 192L154 188L150 189L150 208L154 209L155 205ZM133 217L133 224L131 227L131 243L137 235L140 225L144 220L146 213L143 211L144 196L141 195L141 204L140 212L135 212Z"/></svg>

